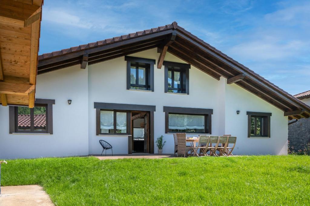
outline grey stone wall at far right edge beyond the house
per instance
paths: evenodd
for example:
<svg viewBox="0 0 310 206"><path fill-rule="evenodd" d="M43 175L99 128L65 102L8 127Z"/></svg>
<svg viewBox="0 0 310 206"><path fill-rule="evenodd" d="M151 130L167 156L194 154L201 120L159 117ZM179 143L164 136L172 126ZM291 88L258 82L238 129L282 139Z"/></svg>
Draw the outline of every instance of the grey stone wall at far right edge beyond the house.
<svg viewBox="0 0 310 206"><path fill-rule="evenodd" d="M288 129L290 146L294 147L294 151L303 150L304 146L310 141L310 118L300 119L289 125Z"/></svg>

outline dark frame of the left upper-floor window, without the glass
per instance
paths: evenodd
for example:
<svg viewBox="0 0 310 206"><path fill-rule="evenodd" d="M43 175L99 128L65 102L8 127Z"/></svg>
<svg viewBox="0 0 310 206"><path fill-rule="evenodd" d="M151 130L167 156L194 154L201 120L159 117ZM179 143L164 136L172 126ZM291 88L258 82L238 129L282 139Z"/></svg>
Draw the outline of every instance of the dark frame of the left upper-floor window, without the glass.
<svg viewBox="0 0 310 206"><path fill-rule="evenodd" d="M146 91L154 91L154 64L155 59L145 59L140 57L125 56L125 61L127 61L127 90L135 90L131 87L142 87L146 88ZM131 84L131 66L136 67L136 84ZM138 67L145 68L145 85L139 85L139 69ZM139 89L137 89L139 90Z"/></svg>

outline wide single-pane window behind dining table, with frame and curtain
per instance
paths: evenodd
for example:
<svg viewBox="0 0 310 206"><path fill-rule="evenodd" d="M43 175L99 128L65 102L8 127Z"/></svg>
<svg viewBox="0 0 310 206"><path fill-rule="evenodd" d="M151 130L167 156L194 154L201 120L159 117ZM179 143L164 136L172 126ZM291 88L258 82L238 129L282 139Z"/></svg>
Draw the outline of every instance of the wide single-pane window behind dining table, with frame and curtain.
<svg viewBox="0 0 310 206"><path fill-rule="evenodd" d="M166 113L166 133L211 133L212 109L164 107Z"/></svg>

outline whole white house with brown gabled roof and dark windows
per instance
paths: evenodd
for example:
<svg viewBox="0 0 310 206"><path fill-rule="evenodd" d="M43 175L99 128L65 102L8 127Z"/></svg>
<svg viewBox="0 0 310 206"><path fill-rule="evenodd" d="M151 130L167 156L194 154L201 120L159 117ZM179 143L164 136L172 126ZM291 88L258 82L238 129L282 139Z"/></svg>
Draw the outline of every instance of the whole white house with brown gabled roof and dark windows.
<svg viewBox="0 0 310 206"><path fill-rule="evenodd" d="M113 154L157 153L161 135L173 153L175 132L232 134L234 154L281 155L288 119L310 115L176 22L38 59L35 107L0 107L0 159L101 154L100 139Z"/></svg>

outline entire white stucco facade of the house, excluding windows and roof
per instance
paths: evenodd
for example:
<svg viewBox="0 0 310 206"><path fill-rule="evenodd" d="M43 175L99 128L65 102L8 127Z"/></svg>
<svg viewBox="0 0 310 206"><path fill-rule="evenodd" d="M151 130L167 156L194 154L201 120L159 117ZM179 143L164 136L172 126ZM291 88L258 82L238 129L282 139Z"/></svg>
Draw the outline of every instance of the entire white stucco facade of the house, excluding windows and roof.
<svg viewBox="0 0 310 206"><path fill-rule="evenodd" d="M131 56L157 61L159 54L155 48ZM185 63L170 53L165 60ZM113 146L113 154L126 154L128 136L96 135L94 102L155 105L154 139L164 135L163 153L174 152L173 135L165 134L163 106L213 109L211 134L237 136L235 154L287 153L287 117L283 112L236 84L227 85L225 78L218 81L192 66L189 95L164 93L164 67L154 65L154 82L154 92L126 90L124 57L85 70L77 65L39 75L36 98L55 99L54 134L9 134L8 107L0 107L0 159L101 154L100 139ZM71 105L68 99L72 99ZM247 111L272 113L271 138L247 138Z"/></svg>

